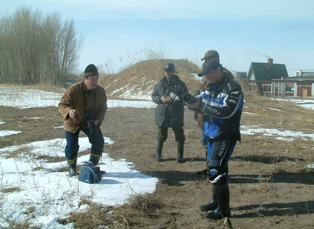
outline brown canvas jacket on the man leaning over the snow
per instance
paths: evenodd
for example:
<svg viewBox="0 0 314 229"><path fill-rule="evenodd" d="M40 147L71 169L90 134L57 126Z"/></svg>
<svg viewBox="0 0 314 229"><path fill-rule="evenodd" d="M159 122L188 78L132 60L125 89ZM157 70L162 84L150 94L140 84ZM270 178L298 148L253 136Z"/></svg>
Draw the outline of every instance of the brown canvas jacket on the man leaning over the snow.
<svg viewBox="0 0 314 229"><path fill-rule="evenodd" d="M72 133L81 126L88 126L87 122L83 120L83 114L87 112L93 112L95 119L97 119L99 125L101 125L107 109L105 89L97 85L96 88L91 91L90 95L88 95L84 81L71 85L61 97L59 103L59 112L64 117L63 128ZM69 117L71 110L75 110L77 114L74 119Z"/></svg>

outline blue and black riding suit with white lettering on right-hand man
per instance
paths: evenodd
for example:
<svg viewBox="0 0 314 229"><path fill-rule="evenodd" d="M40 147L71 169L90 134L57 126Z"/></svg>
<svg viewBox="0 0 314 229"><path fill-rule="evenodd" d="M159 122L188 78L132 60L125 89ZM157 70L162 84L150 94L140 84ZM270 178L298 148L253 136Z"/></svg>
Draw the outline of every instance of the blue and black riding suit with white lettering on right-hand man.
<svg viewBox="0 0 314 229"><path fill-rule="evenodd" d="M225 74L218 83L208 84L201 96L199 110L207 114L204 123L208 140L207 175L213 184L226 180L228 160L237 140L241 140L242 108L241 86Z"/></svg>

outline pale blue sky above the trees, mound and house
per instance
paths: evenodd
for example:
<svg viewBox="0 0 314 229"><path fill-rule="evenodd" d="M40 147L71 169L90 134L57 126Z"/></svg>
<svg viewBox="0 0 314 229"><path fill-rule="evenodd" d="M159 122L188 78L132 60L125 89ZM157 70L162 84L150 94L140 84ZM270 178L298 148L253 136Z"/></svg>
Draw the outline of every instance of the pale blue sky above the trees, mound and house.
<svg viewBox="0 0 314 229"><path fill-rule="evenodd" d="M119 70L145 50L164 50L165 58L187 58L201 65L209 49L230 70L248 71L251 62L314 69L313 0L11 0L1 11L20 5L73 18L84 35L80 71L112 60Z"/></svg>

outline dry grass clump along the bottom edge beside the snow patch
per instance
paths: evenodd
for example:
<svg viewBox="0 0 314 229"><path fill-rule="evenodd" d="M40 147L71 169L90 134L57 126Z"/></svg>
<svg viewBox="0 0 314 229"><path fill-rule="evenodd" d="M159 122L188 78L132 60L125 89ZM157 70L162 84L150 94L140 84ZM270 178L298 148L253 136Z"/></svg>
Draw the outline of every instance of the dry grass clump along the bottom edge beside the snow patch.
<svg viewBox="0 0 314 229"><path fill-rule="evenodd" d="M145 228L149 219L164 216L162 207L169 206L153 194L133 195L128 203L120 207L104 206L88 200L82 200L80 205L87 204L84 212L73 212L67 219L60 219L60 224L74 223L76 229L97 229L108 226L109 229Z"/></svg>

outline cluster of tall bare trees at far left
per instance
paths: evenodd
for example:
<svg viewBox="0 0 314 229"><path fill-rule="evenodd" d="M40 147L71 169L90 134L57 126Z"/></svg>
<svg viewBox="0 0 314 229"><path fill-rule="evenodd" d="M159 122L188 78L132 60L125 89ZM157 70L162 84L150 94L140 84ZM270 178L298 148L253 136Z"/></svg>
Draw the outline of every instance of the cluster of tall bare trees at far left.
<svg viewBox="0 0 314 229"><path fill-rule="evenodd" d="M0 83L65 86L75 73L83 37L61 14L21 7L0 17Z"/></svg>

